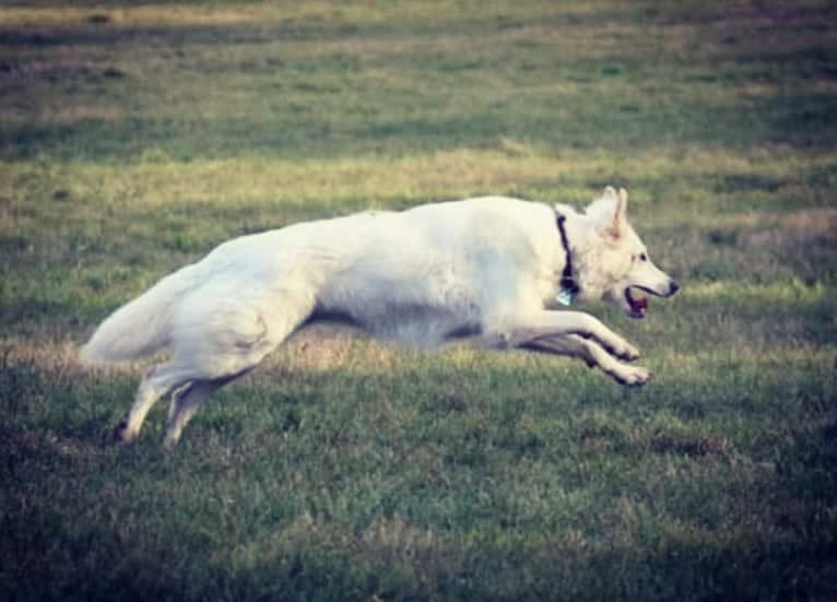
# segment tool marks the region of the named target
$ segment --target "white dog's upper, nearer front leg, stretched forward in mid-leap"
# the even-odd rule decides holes
[[[583,311],[538,311],[524,317],[506,319],[498,324],[490,346],[519,347],[539,339],[562,334],[577,334],[592,339],[620,359],[632,362],[639,350],[604,326],[601,320]]]

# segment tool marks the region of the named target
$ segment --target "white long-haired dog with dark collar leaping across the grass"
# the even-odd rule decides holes
[[[625,190],[608,188],[583,213],[486,197],[241,236],[119,308],[83,356],[119,362],[169,349],[116,430],[135,439],[170,394],[166,447],[213,390],[320,320],[425,349],[474,337],[492,349],[570,355],[643,385],[648,370],[621,362],[638,357],[634,346],[588,314],[556,310],[556,299],[606,298],[641,318],[648,299],[638,291],[676,293],[626,210]]]

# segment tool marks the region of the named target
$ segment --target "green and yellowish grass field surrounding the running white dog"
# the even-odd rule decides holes
[[[0,599],[837,599],[837,5],[0,8]],[[177,453],[111,309],[224,239],[608,184],[656,378],[304,333]]]

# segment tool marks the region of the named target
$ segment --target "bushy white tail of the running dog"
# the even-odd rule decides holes
[[[194,272],[194,265],[181,268],[114,311],[82,347],[82,362],[129,362],[167,346],[177,302],[197,286]]]

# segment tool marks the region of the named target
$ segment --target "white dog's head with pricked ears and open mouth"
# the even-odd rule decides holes
[[[651,261],[648,249],[627,221],[627,191],[606,188],[586,211],[596,244],[583,258],[579,279],[589,293],[621,307],[632,318],[645,318],[647,294],[671,297],[680,285]],[[592,295],[590,295],[592,296]]]

